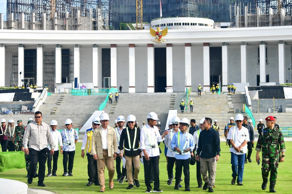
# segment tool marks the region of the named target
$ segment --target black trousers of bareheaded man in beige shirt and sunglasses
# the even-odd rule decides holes
[[[41,151],[37,151],[32,148],[29,148],[28,150],[30,158],[29,179],[33,178],[36,170],[36,164],[39,162],[39,181],[37,183],[43,183],[45,179],[47,157],[44,157]]]

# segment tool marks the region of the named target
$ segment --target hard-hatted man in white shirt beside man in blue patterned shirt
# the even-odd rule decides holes
[[[51,120],[51,136],[53,138],[53,142],[54,142],[54,154],[52,155],[51,153],[49,153],[48,155],[48,174],[47,176],[58,176],[56,174],[57,172],[57,164],[58,164],[58,157],[59,157],[59,145],[60,145],[60,153],[63,154],[63,141],[62,141],[62,136],[61,133],[56,130],[58,123],[56,120]],[[48,144],[48,149],[51,150],[51,147]],[[53,170],[52,170],[52,160],[53,160]]]

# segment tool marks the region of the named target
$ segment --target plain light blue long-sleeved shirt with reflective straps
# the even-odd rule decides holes
[[[187,142],[186,146],[185,146],[185,142]],[[173,150],[174,150],[174,147],[178,147],[178,132],[173,135],[173,138],[172,138],[170,145],[171,145],[171,148]],[[185,132],[184,134],[182,132],[180,132],[180,146],[178,148],[181,151],[183,151],[183,150],[185,150],[185,149],[183,149],[184,146],[185,146],[185,149],[191,148],[191,151],[193,151],[193,149],[195,148],[194,138],[188,132]],[[185,153],[185,152],[183,152],[183,153]],[[175,154],[175,159],[185,160],[185,159],[189,159],[189,158],[191,158],[190,152],[185,153],[185,155]]]

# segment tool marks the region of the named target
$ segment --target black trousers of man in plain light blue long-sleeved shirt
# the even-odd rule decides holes
[[[185,188],[190,187],[190,160],[191,158],[182,160],[182,159],[175,159],[176,168],[175,168],[175,185],[178,186],[180,184],[180,179],[183,174],[185,175]]]

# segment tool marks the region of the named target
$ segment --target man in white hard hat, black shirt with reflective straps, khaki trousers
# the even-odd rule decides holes
[[[138,181],[138,175],[140,172],[140,129],[135,127],[136,117],[134,115],[129,115],[127,118],[128,127],[124,129],[121,133],[121,139],[119,141],[119,157],[123,157],[123,149],[125,147],[125,159],[126,159],[126,169],[128,177],[128,187],[127,189],[132,189],[134,185],[140,187]],[[132,163],[134,164],[134,179]]]

